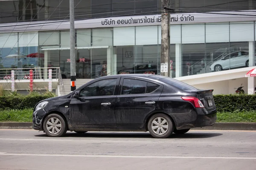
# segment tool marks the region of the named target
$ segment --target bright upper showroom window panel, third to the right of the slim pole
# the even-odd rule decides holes
[[[135,45],[135,27],[113,28],[113,45]]]

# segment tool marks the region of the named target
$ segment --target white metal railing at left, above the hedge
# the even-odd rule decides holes
[[[52,69],[52,79],[61,77],[59,67],[50,68],[3,68],[0,69],[0,79],[12,79],[12,70],[14,71],[14,79],[30,79],[30,70],[33,73],[33,79],[49,79],[49,69]]]

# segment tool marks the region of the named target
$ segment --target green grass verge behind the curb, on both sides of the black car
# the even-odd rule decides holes
[[[0,122],[32,122],[33,109],[0,111]],[[217,113],[217,122],[256,122],[256,111]]]

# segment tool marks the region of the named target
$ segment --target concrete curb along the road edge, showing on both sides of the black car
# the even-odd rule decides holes
[[[0,122],[0,129],[32,129],[30,122]],[[212,126],[196,127],[197,130],[256,130],[256,123],[215,123]]]

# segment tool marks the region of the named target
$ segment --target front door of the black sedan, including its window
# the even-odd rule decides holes
[[[119,79],[104,79],[80,90],[78,99],[71,99],[70,122],[73,127],[116,127],[114,95]]]

